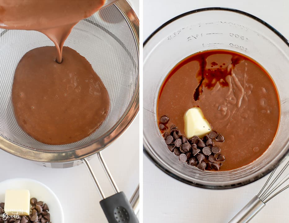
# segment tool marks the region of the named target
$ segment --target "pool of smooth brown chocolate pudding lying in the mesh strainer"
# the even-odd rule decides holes
[[[63,55],[62,63],[56,63],[55,47],[30,50],[20,60],[12,86],[20,127],[52,145],[89,136],[109,111],[108,92],[90,63],[69,47]]]

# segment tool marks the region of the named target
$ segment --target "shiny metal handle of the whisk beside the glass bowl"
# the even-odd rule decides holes
[[[247,205],[236,214],[229,223],[246,223],[249,222],[262,208],[265,207],[263,203],[257,196],[254,196],[253,199]]]

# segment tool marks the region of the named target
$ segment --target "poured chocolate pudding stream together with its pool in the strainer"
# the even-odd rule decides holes
[[[36,140],[60,145],[93,133],[109,111],[109,95],[91,64],[63,47],[78,21],[93,15],[105,0],[0,0],[0,28],[36,30],[56,47],[27,52],[12,86],[19,126]]]

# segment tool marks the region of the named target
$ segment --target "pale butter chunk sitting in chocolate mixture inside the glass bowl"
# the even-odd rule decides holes
[[[187,138],[198,136],[203,138],[211,132],[211,126],[199,107],[190,108],[184,116],[185,134]]]

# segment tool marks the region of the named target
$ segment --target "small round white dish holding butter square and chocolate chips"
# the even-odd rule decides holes
[[[61,204],[54,194],[44,184],[25,178],[15,178],[0,182],[0,203],[4,202],[5,191],[8,189],[26,189],[30,191],[31,198],[35,197],[38,201],[47,203],[51,222],[64,223],[64,215]]]

